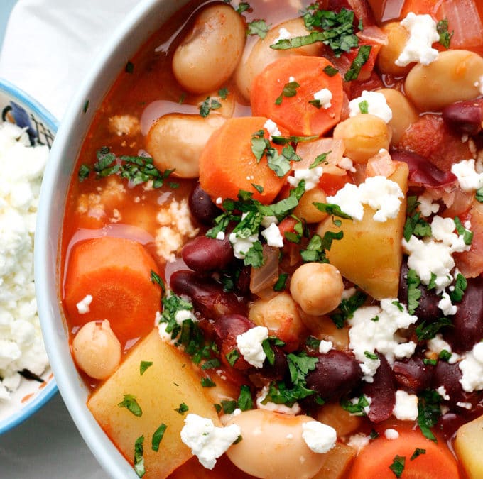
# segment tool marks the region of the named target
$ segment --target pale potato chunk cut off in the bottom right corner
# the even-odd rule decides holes
[[[483,478],[483,416],[458,429],[455,451],[470,479]]]

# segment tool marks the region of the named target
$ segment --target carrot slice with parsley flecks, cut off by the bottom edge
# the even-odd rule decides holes
[[[396,475],[390,467],[396,463],[392,467],[398,468],[397,463],[401,464],[401,462],[403,462],[403,472],[401,475]],[[349,479],[394,479],[396,477],[458,479],[460,473],[454,456],[443,441],[436,444],[426,439],[420,432],[408,430],[399,431],[397,439],[379,436],[372,441],[359,453],[349,474]]]

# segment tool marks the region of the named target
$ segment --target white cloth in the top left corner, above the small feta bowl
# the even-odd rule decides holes
[[[0,77],[59,121],[95,55],[139,0],[18,0],[6,28]]]

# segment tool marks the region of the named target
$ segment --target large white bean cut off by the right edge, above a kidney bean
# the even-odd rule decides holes
[[[430,65],[413,67],[404,90],[419,111],[437,111],[455,101],[478,97],[482,77],[483,58],[477,53],[447,50]]]

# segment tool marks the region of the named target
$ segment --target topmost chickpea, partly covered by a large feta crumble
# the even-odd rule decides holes
[[[410,63],[406,67],[398,67],[395,62],[406,46],[409,32],[397,21],[387,23],[381,27],[381,30],[387,35],[387,45],[382,45],[379,55],[377,55],[379,70],[381,73],[389,73],[395,77],[407,75],[414,63]]]

